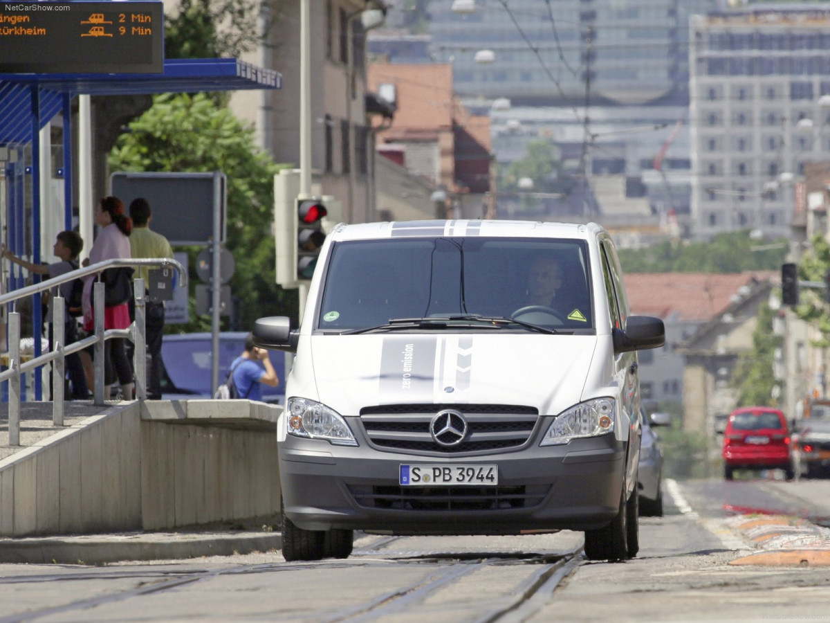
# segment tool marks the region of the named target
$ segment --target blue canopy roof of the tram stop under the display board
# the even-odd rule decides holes
[[[165,59],[162,74],[0,74],[0,146],[32,140],[32,89],[39,89],[43,127],[63,96],[121,96],[281,89],[279,72],[236,58]]]

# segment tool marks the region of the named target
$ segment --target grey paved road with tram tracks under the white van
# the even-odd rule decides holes
[[[730,527],[727,508],[820,509],[823,502],[798,496],[830,499],[830,482],[668,484],[666,517],[642,518],[640,555],[625,563],[587,562],[581,534],[559,532],[364,535],[344,561],[287,563],[279,552],[259,552],[0,565],[0,623],[830,620],[830,567],[730,565],[759,546]]]

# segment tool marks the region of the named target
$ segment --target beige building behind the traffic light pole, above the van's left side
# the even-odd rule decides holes
[[[271,2],[262,17],[266,42],[247,60],[278,68],[282,89],[238,93],[237,115],[251,122],[278,163],[300,163],[300,2]],[[312,192],[342,204],[335,219],[376,218],[374,133],[367,111],[364,12],[381,0],[315,0],[310,6]]]

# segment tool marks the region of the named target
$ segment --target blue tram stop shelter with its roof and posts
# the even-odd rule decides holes
[[[71,105],[76,96],[281,87],[279,72],[235,58],[165,59],[164,71],[160,74],[0,74],[0,226],[5,232],[2,242],[15,253],[32,249],[32,262],[41,262],[42,194],[44,184],[51,183],[41,179],[41,160],[51,159],[50,133],[41,130],[58,119],[63,127],[63,156],[56,177],[63,180],[64,228],[72,228],[72,184],[76,175],[73,173]],[[22,277],[14,277],[7,287],[11,290],[22,285]],[[39,295],[32,307],[40,307]],[[41,316],[32,316],[32,335],[39,336]],[[4,331],[2,337],[5,337]],[[0,350],[5,350],[5,343],[2,346]],[[40,356],[40,341],[34,341],[34,349],[34,355]],[[36,376],[34,390],[35,400],[41,400],[40,375]]]

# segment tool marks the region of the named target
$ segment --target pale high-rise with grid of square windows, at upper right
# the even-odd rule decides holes
[[[787,237],[805,165],[830,159],[830,8],[750,5],[690,29],[696,238]]]

